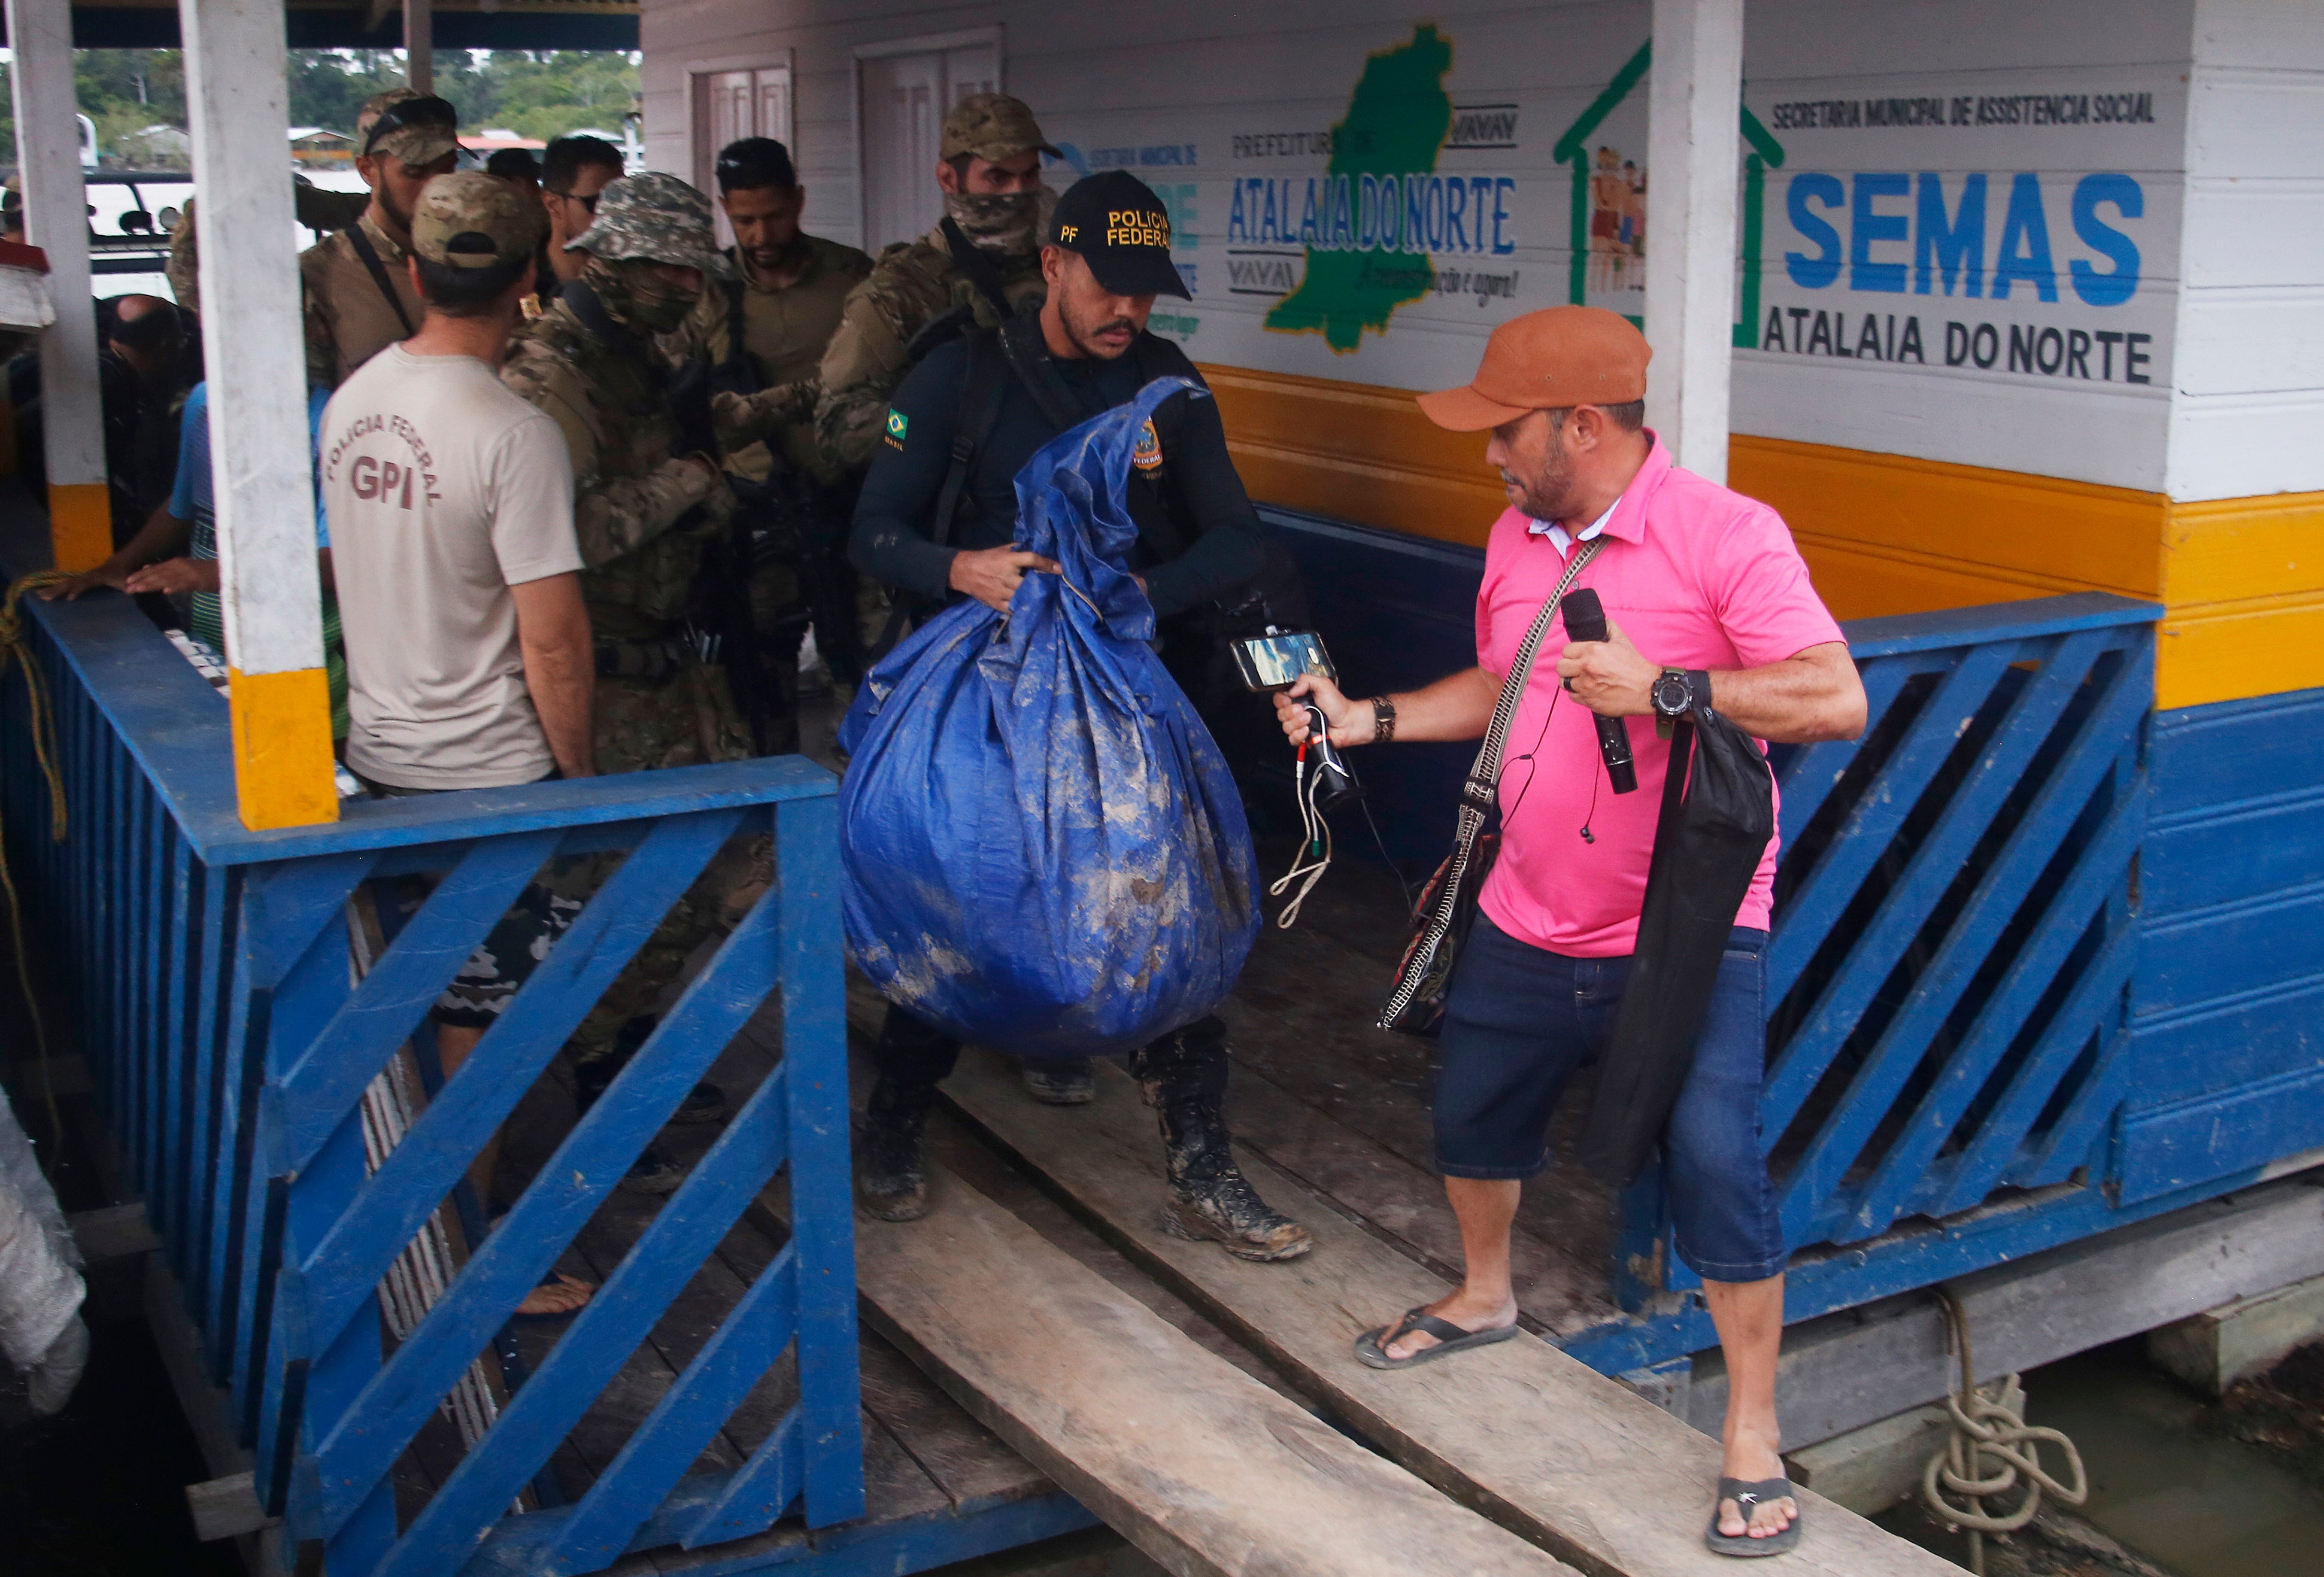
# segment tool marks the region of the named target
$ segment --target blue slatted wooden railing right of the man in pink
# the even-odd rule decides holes
[[[2129,1219],[2108,1138],[2157,613],[2078,595],[1857,620],[1866,732],[1773,753],[1759,1110],[1789,1319]],[[1645,1317],[1699,1287],[1669,1233],[1650,1175],[1615,1250]]]

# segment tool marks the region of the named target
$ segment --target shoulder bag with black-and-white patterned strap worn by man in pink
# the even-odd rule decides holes
[[[1436,866],[1436,876],[1420,890],[1413,908],[1413,941],[1397,964],[1397,985],[1380,1008],[1380,1029],[1406,1036],[1436,1036],[1446,1022],[1446,999],[1452,994],[1452,966],[1469,943],[1469,927],[1476,924],[1476,896],[1492,873],[1492,862],[1501,852],[1501,750],[1508,746],[1508,725],[1525,699],[1525,685],[1534,676],[1534,657],[1541,653],[1541,636],[1557,618],[1557,604],[1573,590],[1573,576],[1583,571],[1606,543],[1594,537],[1576,546],[1566,574],[1557,590],[1541,604],[1534,627],[1525,632],[1518,660],[1508,664],[1501,681],[1501,699],[1485,725],[1485,746],[1476,753],[1476,766],[1459,787],[1459,820],[1452,829],[1452,852]]]

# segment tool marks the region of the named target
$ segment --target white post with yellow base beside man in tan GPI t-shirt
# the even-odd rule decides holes
[[[179,0],[202,190],[202,353],[235,787],[249,827],[339,815],[284,137],[281,0]]]

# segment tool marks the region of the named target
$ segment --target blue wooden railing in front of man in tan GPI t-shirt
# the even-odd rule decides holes
[[[393,801],[246,831],[218,694],[121,599],[26,599],[67,836],[49,836],[26,685],[0,701],[7,852],[42,920],[107,1126],[207,1338],[256,1486],[335,1577],[611,1565],[625,1549],[862,1514],[837,801],[799,757]],[[776,883],[607,1099],[393,1352],[374,1289],[600,992],[730,838]],[[623,850],[539,971],[386,1154],[363,1099],[551,857]],[[365,883],[435,890],[367,968]],[[781,992],[781,1061],[437,1493],[393,1468],[711,1059]],[[741,1210],[779,1173],[792,1236],[574,1503],[511,1512]],[[786,1354],[797,1400],[727,1475],[688,1475]],[[544,1479],[546,1482],[546,1479]],[[532,1500],[525,1500],[532,1505]]]

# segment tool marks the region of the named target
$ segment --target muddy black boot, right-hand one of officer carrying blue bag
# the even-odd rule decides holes
[[[1306,1226],[1269,1208],[1234,1164],[1220,1110],[1227,1096],[1225,1024],[1204,1020],[1132,1054],[1132,1073],[1162,1126],[1169,1196],[1162,1231],[1218,1243],[1236,1259],[1299,1259],[1315,1240]]]

